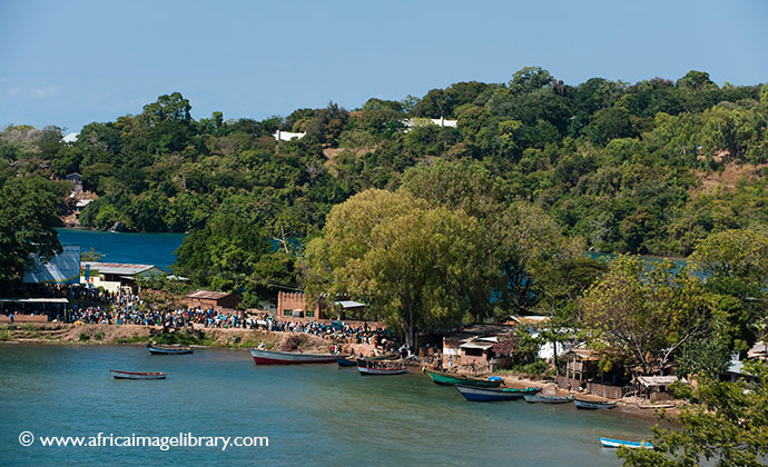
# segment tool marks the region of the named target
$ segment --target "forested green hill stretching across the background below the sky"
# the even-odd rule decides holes
[[[410,167],[444,159],[484,166],[510,200],[540,205],[593,250],[686,256],[709,232],[768,225],[767,119],[768,86],[719,87],[700,71],[572,86],[524,68],[506,83],[263,121],[195,120],[171,93],[87,125],[72,143],[55,127],[6,128],[0,182],[80,172],[99,196],[80,219],[99,229],[119,220],[134,231],[188,231],[223,212],[303,238],[352,195],[395,188]],[[306,136],[276,141],[278,129]]]

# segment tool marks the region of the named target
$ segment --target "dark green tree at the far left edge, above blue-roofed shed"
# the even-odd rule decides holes
[[[61,191],[40,177],[11,178],[0,188],[0,284],[21,279],[31,254],[46,261],[61,252],[53,230]]]

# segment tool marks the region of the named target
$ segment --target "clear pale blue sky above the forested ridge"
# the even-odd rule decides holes
[[[0,129],[65,133],[179,91],[195,119],[401,100],[528,66],[768,81],[768,1],[0,0]]]

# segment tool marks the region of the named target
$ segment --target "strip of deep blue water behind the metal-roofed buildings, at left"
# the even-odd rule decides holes
[[[81,251],[93,248],[104,262],[155,265],[164,269],[176,261],[174,251],[185,234],[119,234],[80,229],[56,229],[61,245],[79,245]]]

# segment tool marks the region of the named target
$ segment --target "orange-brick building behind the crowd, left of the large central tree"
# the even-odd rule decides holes
[[[336,296],[333,305],[327,297],[321,297],[313,307],[307,307],[306,297],[301,291],[277,292],[277,316],[280,319],[312,321],[321,319],[363,320],[365,304],[349,300],[346,296]]]

